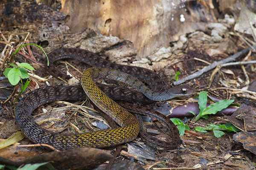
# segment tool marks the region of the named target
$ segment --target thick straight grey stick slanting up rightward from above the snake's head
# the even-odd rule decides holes
[[[256,45],[253,45],[253,48],[256,48]],[[187,80],[194,79],[196,77],[201,76],[205,72],[210,71],[213,68],[215,68],[217,65],[224,64],[224,63],[230,62],[230,61],[234,61],[236,58],[246,54],[250,49],[251,48],[245,48],[242,51],[239,51],[238,53],[236,53],[230,57],[227,57],[226,59],[223,59],[218,62],[213,62],[211,65],[208,65],[207,67],[201,69],[200,71],[197,71],[194,74],[189,75],[188,77],[185,77],[183,79],[178,80],[177,82],[174,82],[173,85],[180,85],[181,83],[186,82]]]

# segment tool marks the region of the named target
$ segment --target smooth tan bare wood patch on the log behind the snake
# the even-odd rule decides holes
[[[129,40],[134,43],[137,59],[161,46],[168,47],[181,34],[204,29],[198,13],[186,12],[183,0],[61,0],[61,5],[73,33],[88,27]],[[184,22],[180,22],[181,14]]]

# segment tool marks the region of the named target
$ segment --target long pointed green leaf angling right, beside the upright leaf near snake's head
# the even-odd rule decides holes
[[[231,103],[233,103],[234,100],[228,100],[228,99],[224,99],[221,100],[219,102],[216,102],[212,105],[209,105],[207,108],[204,109],[204,111],[202,112],[202,116],[203,115],[207,115],[207,114],[215,114],[218,111],[221,111],[224,108],[227,108]]]

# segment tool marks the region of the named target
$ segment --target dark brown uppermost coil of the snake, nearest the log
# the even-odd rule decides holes
[[[59,76],[63,79],[68,79],[70,76],[67,76],[62,71],[56,69],[53,66],[53,63],[60,59],[72,58],[77,59],[80,62],[84,62],[91,67],[111,68],[113,70],[130,74],[134,77],[137,77],[141,82],[148,84],[155,92],[162,91],[164,88],[166,88],[165,83],[162,81],[161,77],[154,73],[154,71],[132,65],[121,65],[113,63],[87,50],[79,48],[60,48],[49,53],[48,58],[49,67],[47,67],[47,71],[52,75],[55,75],[56,77]]]

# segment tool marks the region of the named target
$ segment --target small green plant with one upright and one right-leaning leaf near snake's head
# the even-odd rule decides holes
[[[234,100],[224,99],[224,100],[221,100],[219,102],[216,102],[216,103],[206,107],[207,92],[201,91],[199,94],[199,99],[198,99],[198,105],[199,105],[200,112],[198,113],[197,116],[195,116],[194,122],[198,121],[201,117],[203,117],[204,119],[208,119],[209,114],[216,114],[218,111],[221,111],[222,109],[227,108],[233,102],[234,102]],[[189,112],[195,115],[194,112],[192,112],[192,111],[189,111]]]

